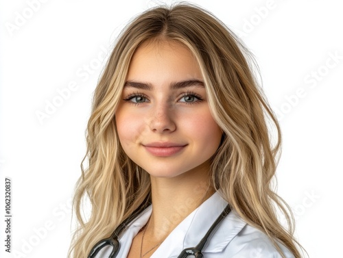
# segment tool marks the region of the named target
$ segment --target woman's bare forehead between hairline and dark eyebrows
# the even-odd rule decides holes
[[[171,40],[144,42],[132,56],[127,80],[163,83],[178,79],[202,79],[196,57],[184,44]]]

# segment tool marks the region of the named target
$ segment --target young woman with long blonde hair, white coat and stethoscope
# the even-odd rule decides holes
[[[270,187],[279,125],[247,54],[194,5],[153,8],[126,27],[94,94],[70,257],[300,257]]]

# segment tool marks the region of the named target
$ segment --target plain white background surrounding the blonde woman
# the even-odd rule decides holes
[[[283,130],[278,193],[294,209],[296,237],[309,256],[338,257],[343,230],[341,1],[193,2],[213,12],[255,54]],[[70,198],[105,52],[132,16],[156,3],[1,1],[1,257],[66,257],[73,229]],[[56,102],[58,91],[70,83],[76,83],[73,91]],[[49,109],[53,101],[60,106]],[[48,117],[38,119],[37,112],[45,109]],[[4,251],[5,177],[12,179],[11,254]]]

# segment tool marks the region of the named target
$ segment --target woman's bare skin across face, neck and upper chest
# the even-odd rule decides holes
[[[176,42],[145,43],[137,49],[115,116],[123,150],[152,181],[145,253],[213,193],[209,159],[222,130],[211,115],[196,59]],[[134,237],[129,258],[139,257],[141,237]]]

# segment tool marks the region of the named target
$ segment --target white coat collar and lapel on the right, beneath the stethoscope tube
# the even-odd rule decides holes
[[[185,248],[196,246],[228,203],[215,192],[172,231],[151,258],[178,257]],[[219,253],[244,228],[246,222],[231,211],[209,237],[202,253]]]

